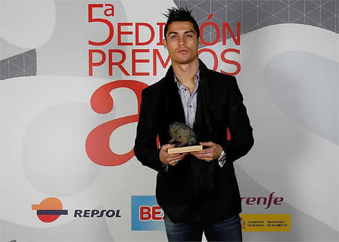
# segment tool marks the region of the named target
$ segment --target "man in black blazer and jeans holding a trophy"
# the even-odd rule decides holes
[[[172,66],[143,90],[134,153],[158,171],[156,199],[169,241],[201,241],[203,232],[208,241],[242,241],[233,162],[254,142],[242,95],[235,77],[199,59],[199,26],[190,12],[172,8],[165,16],[164,46]],[[173,122],[192,127],[203,150],[169,154]]]

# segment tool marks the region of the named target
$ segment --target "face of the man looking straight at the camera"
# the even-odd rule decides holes
[[[173,21],[167,28],[164,46],[173,62],[187,64],[198,57],[199,39],[189,21]]]

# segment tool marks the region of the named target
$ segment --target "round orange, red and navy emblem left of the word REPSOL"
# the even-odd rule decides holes
[[[32,205],[37,210],[37,217],[44,223],[51,223],[60,215],[67,215],[68,210],[62,210],[62,202],[57,198],[46,198],[39,205]]]

